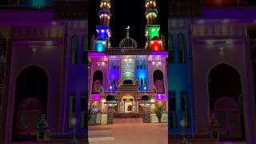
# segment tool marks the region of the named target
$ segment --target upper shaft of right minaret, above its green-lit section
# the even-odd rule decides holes
[[[147,25],[156,25],[157,24],[157,17],[158,17],[158,10],[155,9],[157,6],[157,2],[155,0],[146,0],[146,22]]]

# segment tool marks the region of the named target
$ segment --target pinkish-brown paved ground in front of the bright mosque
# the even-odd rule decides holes
[[[167,144],[166,123],[142,123],[140,118],[115,119],[113,125],[90,126],[90,144]]]

